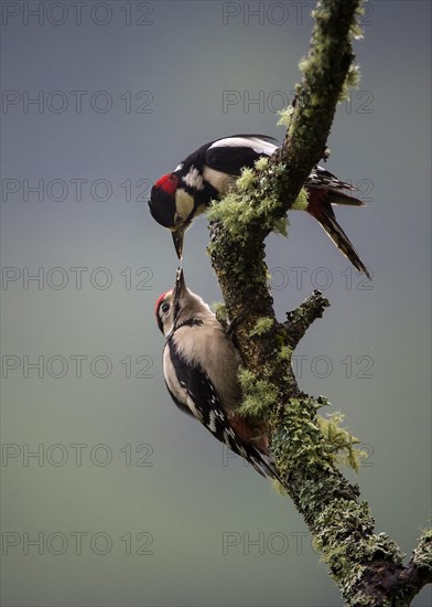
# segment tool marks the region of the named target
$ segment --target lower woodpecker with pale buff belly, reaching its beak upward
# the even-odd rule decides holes
[[[240,355],[207,303],[186,287],[183,269],[174,288],[158,299],[155,317],[166,338],[165,384],[177,407],[260,475],[279,479],[263,428],[238,415]]]

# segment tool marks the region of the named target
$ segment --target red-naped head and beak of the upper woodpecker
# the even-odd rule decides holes
[[[181,259],[184,233],[194,212],[193,196],[182,187],[182,181],[175,173],[168,173],[154,183],[149,206],[153,219],[171,230],[175,252]]]

